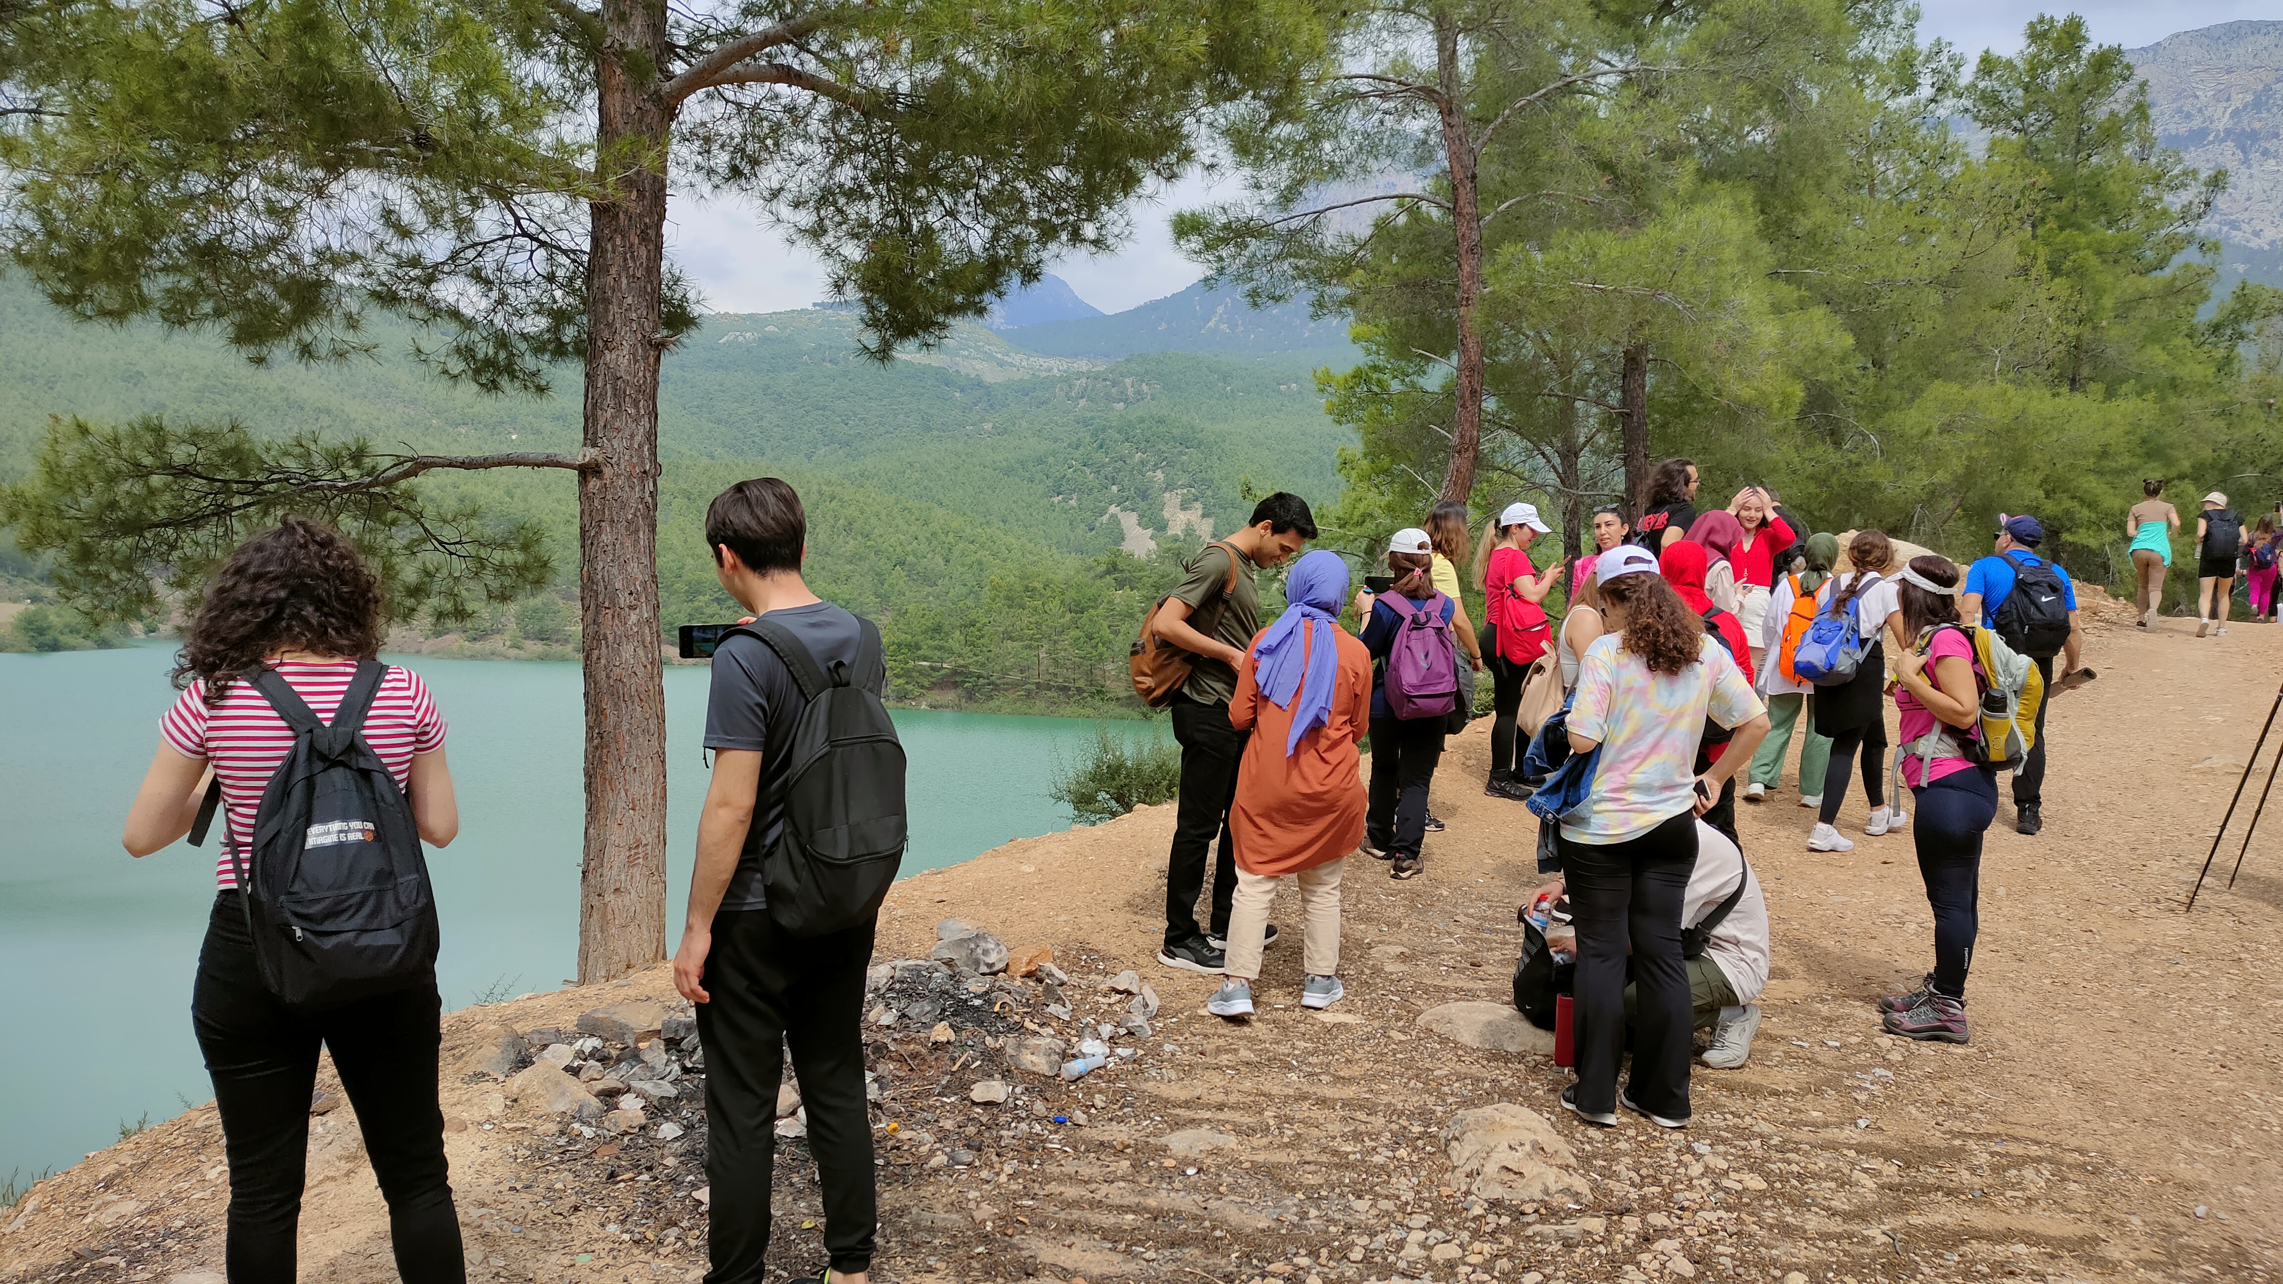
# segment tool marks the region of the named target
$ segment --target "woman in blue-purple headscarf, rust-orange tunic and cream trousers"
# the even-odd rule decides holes
[[[1340,628],[1347,562],[1315,551],[1285,578],[1285,612],[1253,637],[1237,669],[1228,722],[1253,731],[1237,763],[1228,829],[1237,845],[1237,896],[1215,1017],[1251,1017],[1267,946],[1269,902],[1285,875],[1299,882],[1301,1008],[1331,1008],[1340,987],[1340,861],[1363,841],[1356,743],[1372,729],[1372,653]]]

